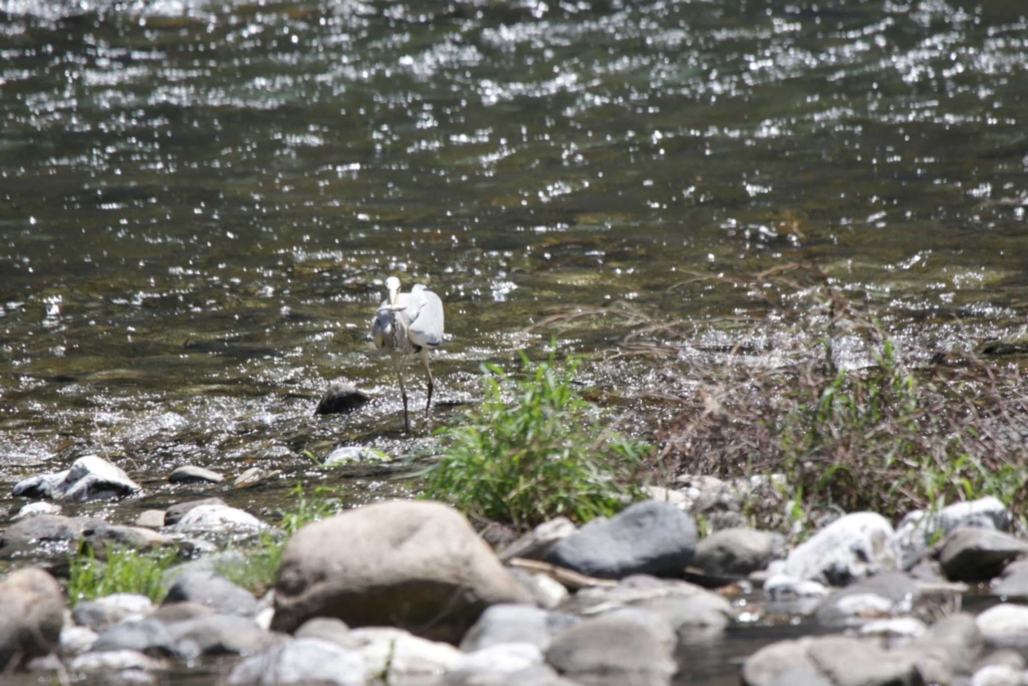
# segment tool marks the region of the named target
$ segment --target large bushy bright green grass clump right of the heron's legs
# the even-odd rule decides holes
[[[483,365],[482,402],[443,430],[445,453],[423,497],[517,527],[557,515],[588,521],[638,499],[649,446],[604,426],[572,389],[579,360],[559,365],[551,354],[531,364],[523,353],[521,360],[519,377]]]

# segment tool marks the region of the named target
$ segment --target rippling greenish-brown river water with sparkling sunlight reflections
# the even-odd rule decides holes
[[[176,498],[167,474],[189,463],[277,470],[229,495],[264,515],[297,481],[412,490],[305,455],[435,444],[402,432],[370,344],[391,275],[446,303],[437,425],[474,402],[481,362],[556,336],[652,434],[644,396],[688,393],[689,357],[619,356],[626,331],[684,320],[732,342],[715,322],[764,319],[748,335],[774,363],[809,346],[791,317],[811,298],[769,317],[752,275],[794,262],[884,308],[908,359],[1015,334],[1026,14],[3,0],[0,489],[99,453],[146,486],[138,507]],[[574,312],[592,314],[547,319]],[[338,377],[372,402],[313,417]],[[407,378],[417,407],[424,373]]]

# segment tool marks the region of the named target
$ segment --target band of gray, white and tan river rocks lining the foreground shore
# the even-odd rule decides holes
[[[739,526],[747,499],[774,498],[767,480],[695,477],[609,519],[558,518],[495,545],[447,505],[390,501],[301,528],[255,598],[218,573],[241,553],[211,541],[272,530],[217,499],[133,525],[62,513],[141,491],[99,457],[14,488],[42,500],[0,535],[6,558],[37,561],[0,580],[5,683],[656,686],[690,682],[683,646],[798,621],[809,635],[750,654],[741,683],[1028,683],[1028,607],[1009,602],[1028,595],[1028,544],[992,498],[895,528],[843,514],[788,541]],[[69,607],[58,578],[83,540],[193,559],[166,572],[158,606],[116,593]],[[968,593],[992,600],[965,612]]]

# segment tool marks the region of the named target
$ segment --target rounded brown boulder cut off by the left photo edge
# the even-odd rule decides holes
[[[64,591],[52,576],[34,567],[14,570],[0,580],[0,674],[58,648]]]

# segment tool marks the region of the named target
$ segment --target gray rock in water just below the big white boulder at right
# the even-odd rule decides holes
[[[914,579],[885,572],[833,592],[817,606],[822,626],[855,626],[871,619],[909,615],[919,595]]]

